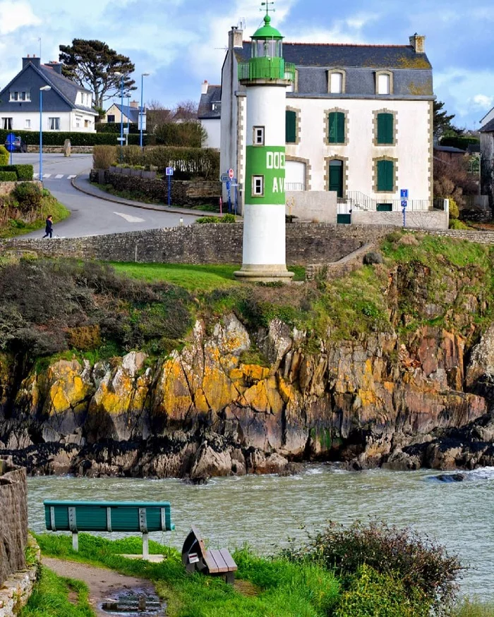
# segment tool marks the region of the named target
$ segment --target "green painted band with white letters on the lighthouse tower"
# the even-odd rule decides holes
[[[284,204],[284,146],[247,146],[246,169],[246,204]],[[253,194],[253,176],[263,176],[263,195]]]

